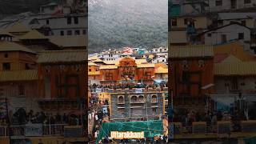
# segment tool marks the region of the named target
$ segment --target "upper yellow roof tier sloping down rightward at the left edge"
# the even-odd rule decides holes
[[[24,51],[24,52],[36,54],[33,50],[26,48],[26,46],[22,46],[15,42],[7,42],[7,41],[0,41],[0,51]]]

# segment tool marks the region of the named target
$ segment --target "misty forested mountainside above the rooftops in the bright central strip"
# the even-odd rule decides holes
[[[168,0],[90,0],[89,50],[166,46]]]

